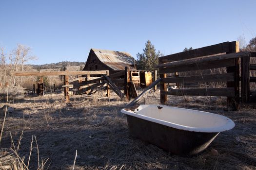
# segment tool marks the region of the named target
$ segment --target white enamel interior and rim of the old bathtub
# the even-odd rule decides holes
[[[128,114],[172,127],[182,126],[179,129],[190,131],[222,132],[235,126],[227,117],[192,109],[152,104],[140,105],[134,111],[128,111]],[[127,114],[127,111],[122,112]]]

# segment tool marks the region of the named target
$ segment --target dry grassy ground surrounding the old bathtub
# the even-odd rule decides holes
[[[10,100],[8,109],[13,109],[5,121],[0,169],[15,169],[24,158],[24,169],[43,166],[72,170],[76,157],[75,170],[256,170],[255,109],[217,109],[215,106],[224,107],[223,98],[169,97],[171,105],[194,105],[236,123],[234,129],[220,133],[203,153],[186,157],[129,136],[126,117],[120,113],[127,102],[119,101],[115,94],[98,100],[101,97],[74,96],[72,105],[63,102],[63,94]],[[159,103],[159,91],[151,91],[140,103]],[[3,105],[1,102],[0,107]],[[0,122],[2,125],[3,115]]]

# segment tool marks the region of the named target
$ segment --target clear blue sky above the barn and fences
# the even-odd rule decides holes
[[[31,64],[85,62],[91,48],[136,58],[150,40],[163,54],[256,36],[256,0],[0,0],[0,47],[18,43]]]

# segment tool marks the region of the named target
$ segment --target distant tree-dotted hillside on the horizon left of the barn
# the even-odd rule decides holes
[[[51,63],[51,64],[44,64],[44,65],[30,65],[32,68],[40,70],[40,69],[56,69],[59,68],[60,70],[67,69],[70,70],[71,68],[75,68],[76,70],[82,70],[85,66],[85,62],[76,62],[76,61],[61,61],[59,63]]]

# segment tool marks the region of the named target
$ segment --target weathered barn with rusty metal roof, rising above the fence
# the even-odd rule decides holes
[[[110,74],[129,66],[135,69],[135,59],[128,52],[91,49],[83,70],[109,70]]]

